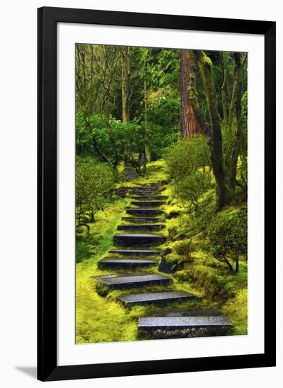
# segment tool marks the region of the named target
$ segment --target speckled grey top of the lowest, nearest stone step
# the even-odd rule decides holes
[[[215,317],[141,317],[139,329],[196,329],[207,327],[233,327],[224,315]]]

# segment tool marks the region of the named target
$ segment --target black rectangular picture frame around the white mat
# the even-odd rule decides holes
[[[57,23],[260,34],[265,39],[265,351],[139,362],[57,363]],[[275,22],[87,9],[38,9],[38,379],[42,381],[275,366]]]

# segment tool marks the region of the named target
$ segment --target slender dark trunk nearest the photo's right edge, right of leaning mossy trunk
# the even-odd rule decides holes
[[[242,65],[241,65],[241,54],[238,52],[234,53],[235,60],[235,112],[236,112],[236,121],[237,128],[235,133],[234,144],[232,147],[232,155],[229,165],[229,190],[231,195],[234,195],[236,188],[236,176],[237,176],[237,162],[239,157],[239,151],[241,148],[241,138],[242,138],[242,122],[241,122],[241,98],[242,98],[242,87],[241,87],[241,78],[242,78]]]

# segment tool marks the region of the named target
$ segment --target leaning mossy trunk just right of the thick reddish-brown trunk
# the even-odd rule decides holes
[[[201,72],[203,87],[206,92],[206,102],[210,117],[210,128],[212,129],[211,145],[211,160],[213,166],[213,174],[215,176],[217,194],[218,194],[218,210],[229,203],[227,197],[227,188],[225,182],[225,171],[223,168],[223,152],[222,152],[222,133],[220,126],[220,116],[218,113],[215,85],[213,80],[212,62],[203,53],[203,51],[194,51],[196,62]]]

